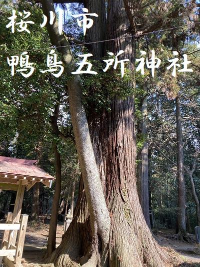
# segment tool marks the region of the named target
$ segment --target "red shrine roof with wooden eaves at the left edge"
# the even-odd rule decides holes
[[[29,189],[35,182],[42,182],[50,186],[55,178],[34,165],[36,160],[18,159],[0,156],[0,184],[22,184],[27,185]]]

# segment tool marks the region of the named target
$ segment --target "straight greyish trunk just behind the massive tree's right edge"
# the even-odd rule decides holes
[[[137,192],[146,224],[150,228],[149,199],[148,199],[148,147],[147,147],[147,97],[141,100],[141,119],[138,122],[138,134],[142,134],[145,141],[137,152]]]

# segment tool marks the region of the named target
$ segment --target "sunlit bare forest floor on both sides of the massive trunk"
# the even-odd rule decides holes
[[[43,256],[46,251],[48,228],[49,219],[45,219],[44,224],[31,225],[28,223],[21,260],[23,267],[37,267],[37,264],[44,262]],[[63,222],[58,221],[56,246],[58,246],[61,242],[63,233]],[[153,231],[153,233],[155,234],[161,246],[167,247],[166,249],[169,251],[174,249],[178,254],[180,254],[181,258],[185,261],[185,265],[181,266],[200,267],[200,255],[196,255],[193,252],[193,249],[195,248],[194,235],[189,235],[191,240],[190,243],[188,243],[174,239],[172,230],[169,229],[157,229],[156,232]]]

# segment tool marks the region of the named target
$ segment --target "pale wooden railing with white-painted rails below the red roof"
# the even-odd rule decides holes
[[[28,215],[23,214],[20,222],[12,222],[12,213],[8,212],[6,223],[0,223],[0,230],[4,230],[0,257],[8,266],[21,263],[27,221]]]

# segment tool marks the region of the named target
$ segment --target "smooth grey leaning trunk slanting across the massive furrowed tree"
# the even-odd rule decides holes
[[[49,21],[49,12],[51,11],[55,14],[53,1],[41,0],[41,4],[43,13]],[[68,102],[78,160],[87,198],[92,236],[91,242],[86,246],[87,252],[84,254],[82,262],[85,262],[83,264],[84,267],[94,267],[98,264],[103,266],[107,262],[110,218],[103,196],[89,136],[86,115],[82,104],[81,80],[79,75],[71,75],[71,72],[75,69],[75,62],[66,37],[63,33],[59,35],[56,19],[54,19],[52,25],[47,24],[47,30],[51,43],[59,47],[66,74],[70,77],[67,79]],[[73,243],[75,243],[75,241],[73,241]],[[58,257],[56,260],[59,261],[60,258]],[[62,265],[60,264],[59,266]]]

